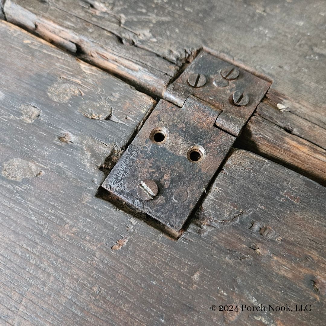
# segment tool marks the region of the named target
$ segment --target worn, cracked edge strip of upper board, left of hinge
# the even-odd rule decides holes
[[[75,4],[83,11],[84,6],[92,3],[97,2],[79,1]],[[74,6],[74,2],[70,5]],[[177,72],[178,67],[174,64],[134,46],[124,35],[111,33],[106,27],[69,13],[67,8],[60,8],[60,3],[32,0],[19,4],[8,1],[5,6],[9,22],[128,80],[138,88],[145,88],[150,94],[162,96],[165,86]]]

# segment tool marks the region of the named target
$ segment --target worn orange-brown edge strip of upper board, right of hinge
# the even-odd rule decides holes
[[[326,186],[326,151],[314,144],[326,146],[325,134],[310,122],[290,115],[265,103],[259,104],[235,146],[249,149]],[[305,127],[311,128],[311,142],[300,137]]]

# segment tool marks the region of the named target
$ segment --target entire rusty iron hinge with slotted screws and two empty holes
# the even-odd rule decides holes
[[[270,85],[200,52],[102,186],[179,231]]]

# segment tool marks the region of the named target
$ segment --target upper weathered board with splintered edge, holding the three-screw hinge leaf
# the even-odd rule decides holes
[[[322,98],[326,95],[326,50],[320,38],[326,20],[324,2],[317,1],[312,6],[305,1],[267,0],[200,4],[7,0],[4,10],[10,22],[119,75],[149,94],[162,96],[179,66],[191,60],[202,46],[269,76],[274,81],[267,94],[270,108],[265,106],[268,113],[260,115],[271,121],[266,114],[274,110],[270,118],[275,125],[275,140],[283,140],[283,130],[292,128],[294,145],[287,147],[286,156],[283,143],[270,139],[270,127],[261,120],[262,129],[251,128],[250,134],[246,134],[244,141],[249,140],[250,146],[245,148],[254,147],[260,155],[325,185],[326,107]],[[266,153],[264,146],[271,141],[272,152]],[[315,150],[314,145],[321,149]],[[300,156],[303,151],[304,162]],[[311,171],[310,162],[316,165],[312,168],[315,171]],[[316,175],[319,170],[320,175]]]

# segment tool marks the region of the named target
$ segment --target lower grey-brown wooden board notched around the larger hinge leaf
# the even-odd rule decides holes
[[[155,101],[12,24],[0,43],[1,324],[325,323],[325,187],[235,149],[172,240],[97,193]],[[300,138],[303,120],[290,134],[259,110],[252,121]]]

